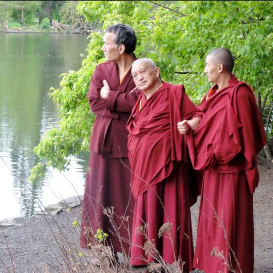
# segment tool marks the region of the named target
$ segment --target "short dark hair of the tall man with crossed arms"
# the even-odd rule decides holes
[[[131,54],[135,50],[136,36],[131,27],[124,24],[115,24],[109,26],[105,32],[115,33],[115,43],[123,44],[125,47],[125,53]]]

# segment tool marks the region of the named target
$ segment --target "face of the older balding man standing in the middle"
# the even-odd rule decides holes
[[[154,68],[145,61],[136,61],[132,65],[132,77],[137,88],[150,90],[158,84],[159,68]]]

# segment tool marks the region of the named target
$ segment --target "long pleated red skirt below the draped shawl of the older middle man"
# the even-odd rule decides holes
[[[140,195],[134,206],[131,259],[132,265],[145,265],[155,260],[154,254],[146,255],[144,245],[154,241],[156,249],[166,263],[186,262],[185,270],[192,270],[193,241],[189,195],[189,171],[176,168],[169,177]],[[163,202],[159,201],[159,198]],[[163,223],[171,223],[159,238]],[[168,225],[168,224],[167,224]],[[147,226],[147,233],[140,232]]]

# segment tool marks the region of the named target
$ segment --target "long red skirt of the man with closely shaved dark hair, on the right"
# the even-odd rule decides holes
[[[229,272],[215,251],[211,255],[214,248],[237,272],[238,263],[242,272],[253,272],[253,195],[245,173],[204,173],[194,267],[211,273]]]

